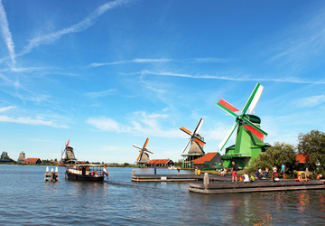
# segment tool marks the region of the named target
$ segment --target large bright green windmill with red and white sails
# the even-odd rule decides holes
[[[238,127],[236,144],[234,146],[228,146],[225,155],[221,157],[224,161],[223,165],[226,167],[231,167],[231,163],[235,162],[239,168],[243,169],[249,165],[252,159],[270,147],[269,144],[263,142],[267,133],[260,127],[261,119],[255,115],[251,115],[262,95],[263,89],[264,87],[261,84],[256,84],[242,111],[230,105],[224,99],[220,99],[217,103],[218,107],[223,108],[236,118],[230,133],[218,145],[219,151],[222,151],[226,146],[229,138]]]

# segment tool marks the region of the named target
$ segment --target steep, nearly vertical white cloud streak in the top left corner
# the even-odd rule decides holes
[[[1,27],[1,33],[5,39],[5,44],[7,46],[10,59],[13,62],[13,68],[15,64],[15,56],[14,56],[14,41],[12,38],[12,34],[10,33],[9,30],[9,24],[7,21],[7,17],[5,14],[5,8],[4,5],[2,4],[2,0],[0,0],[0,27]]]

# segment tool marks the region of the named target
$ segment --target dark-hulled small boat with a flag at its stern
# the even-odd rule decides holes
[[[68,168],[66,178],[73,181],[102,182],[104,181],[104,174],[108,178],[105,165],[80,164]]]

